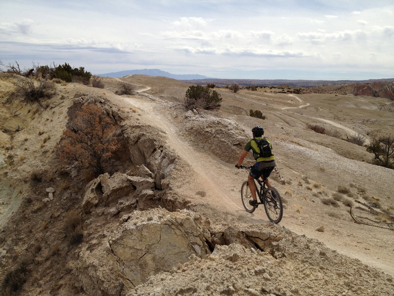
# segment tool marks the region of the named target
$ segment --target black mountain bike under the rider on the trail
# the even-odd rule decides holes
[[[252,167],[245,167],[241,165],[239,168],[250,171]],[[260,185],[260,188],[256,185],[256,181]],[[257,196],[260,199],[260,202],[257,204],[264,205],[265,214],[267,214],[269,221],[279,223],[283,216],[283,203],[278,190],[272,186],[267,187],[265,185],[265,180],[261,181],[259,179],[254,179],[253,182],[255,183]],[[241,199],[246,212],[253,213],[256,210],[257,206],[249,204],[249,201],[253,200],[253,197],[248,181],[245,181],[241,186]]]

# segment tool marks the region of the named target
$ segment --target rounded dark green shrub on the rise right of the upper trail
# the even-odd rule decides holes
[[[220,108],[222,97],[216,90],[201,85],[191,85],[186,90],[184,106],[188,110],[216,110]]]

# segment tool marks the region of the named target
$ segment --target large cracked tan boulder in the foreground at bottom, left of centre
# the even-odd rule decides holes
[[[207,234],[197,221],[185,210],[134,211],[123,216],[110,235],[99,233],[83,243],[79,259],[70,262],[69,267],[88,295],[115,295],[119,281],[129,291],[191,256],[204,258],[210,254]]]

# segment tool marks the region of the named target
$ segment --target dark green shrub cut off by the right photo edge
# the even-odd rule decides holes
[[[374,164],[394,169],[394,137],[374,137],[366,150],[374,154]]]

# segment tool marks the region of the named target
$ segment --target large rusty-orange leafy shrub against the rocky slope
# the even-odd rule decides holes
[[[83,106],[71,123],[74,131],[66,129],[56,146],[60,162],[93,176],[103,174],[120,148],[114,136],[115,123],[96,105]]]

